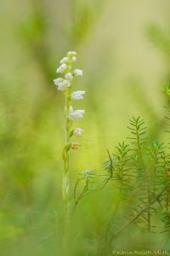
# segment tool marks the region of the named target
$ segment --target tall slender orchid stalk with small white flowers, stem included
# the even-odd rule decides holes
[[[65,146],[63,148],[63,182],[62,192],[65,204],[65,227],[70,219],[70,189],[69,189],[69,163],[71,149],[78,149],[81,144],[72,141],[72,137],[82,137],[82,128],[72,128],[72,125],[78,119],[83,117],[85,110],[73,110],[72,102],[83,99],[85,90],[73,90],[73,80],[75,77],[82,76],[81,69],[72,69],[73,63],[77,61],[77,53],[69,51],[60,61],[60,66],[56,72],[62,74],[62,78],[54,79],[57,89],[62,91],[65,96]]]

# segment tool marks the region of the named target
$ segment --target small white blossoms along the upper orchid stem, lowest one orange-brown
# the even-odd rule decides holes
[[[61,73],[62,77],[54,79],[54,84],[57,86],[57,89],[65,93],[65,119],[70,122],[69,127],[71,127],[74,121],[82,118],[83,114],[85,113],[85,110],[83,109],[73,110],[72,108],[72,101],[82,100],[83,96],[85,95],[85,90],[72,90],[73,79],[75,77],[82,76],[81,69],[72,69],[72,64],[75,61],[77,61],[77,53],[75,51],[69,51],[67,55],[60,61],[60,66],[56,70],[56,73]],[[67,121],[65,121],[65,123]],[[70,137],[81,137],[83,130],[81,128],[76,128],[73,131],[67,132],[70,134]],[[72,149],[77,149],[80,146],[80,143],[71,143]]]

